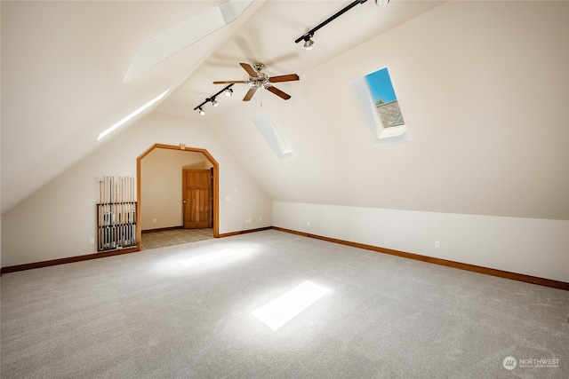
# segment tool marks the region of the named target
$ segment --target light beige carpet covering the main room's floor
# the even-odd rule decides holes
[[[276,331],[252,316],[305,280],[331,291]],[[274,230],[1,282],[3,379],[569,377],[567,291]]]

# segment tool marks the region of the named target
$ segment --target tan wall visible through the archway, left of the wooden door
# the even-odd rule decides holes
[[[140,161],[142,230],[182,226],[182,170],[211,167],[202,153],[157,148],[145,156]]]

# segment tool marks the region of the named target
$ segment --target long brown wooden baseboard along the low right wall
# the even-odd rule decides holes
[[[389,254],[391,256],[404,257],[404,258],[408,258],[408,259],[414,259],[417,261],[427,262],[430,264],[444,265],[447,267],[453,267],[453,268],[457,268],[460,270],[484,273],[485,275],[492,275],[492,276],[497,276],[500,278],[505,278],[505,279],[510,279],[510,280],[525,281],[526,283],[538,284],[540,286],[545,286],[545,287],[550,287],[550,288],[565,289],[565,291],[569,291],[569,283],[567,283],[565,281],[539,278],[539,277],[532,276],[532,275],[525,275],[523,273],[502,271],[502,270],[483,267],[483,266],[479,266],[479,265],[463,264],[461,262],[454,262],[454,261],[449,261],[446,259],[441,259],[441,258],[436,258],[436,257],[421,256],[419,254],[407,253],[405,251],[386,249],[386,248],[381,248],[378,246],[366,245],[364,243],[344,241],[344,240],[338,240],[335,238],[324,237],[324,236],[317,235],[317,234],[298,232],[298,231],[294,231],[291,229],[281,228],[278,226],[273,226],[272,229],[275,229],[275,230],[280,231],[280,232],[293,233],[293,234],[302,235],[304,237],[315,238],[317,240],[340,243],[341,245],[351,246],[354,248],[373,250],[373,251],[377,251],[379,253]]]

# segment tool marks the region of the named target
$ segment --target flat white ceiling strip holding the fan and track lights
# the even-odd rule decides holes
[[[194,107],[223,88],[212,84],[213,81],[248,78],[239,62],[260,62],[265,65],[263,72],[269,76],[295,73],[301,76],[302,81],[304,73],[442,2],[394,0],[388,7],[381,8],[369,0],[320,28],[313,38],[313,50],[305,51],[302,42],[294,43],[350,3],[345,0],[265,2],[158,109],[168,114],[198,118]],[[294,88],[298,85],[301,83],[278,83],[275,86],[294,96]],[[243,99],[248,89],[247,84],[236,84],[236,97]],[[238,101],[226,103],[224,109],[243,106]],[[215,114],[208,113],[207,120],[214,122]]]

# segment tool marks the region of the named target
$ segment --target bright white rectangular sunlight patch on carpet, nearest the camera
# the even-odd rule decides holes
[[[276,297],[251,312],[268,328],[276,330],[330,292],[329,288],[318,286],[307,280],[299,286]]]

